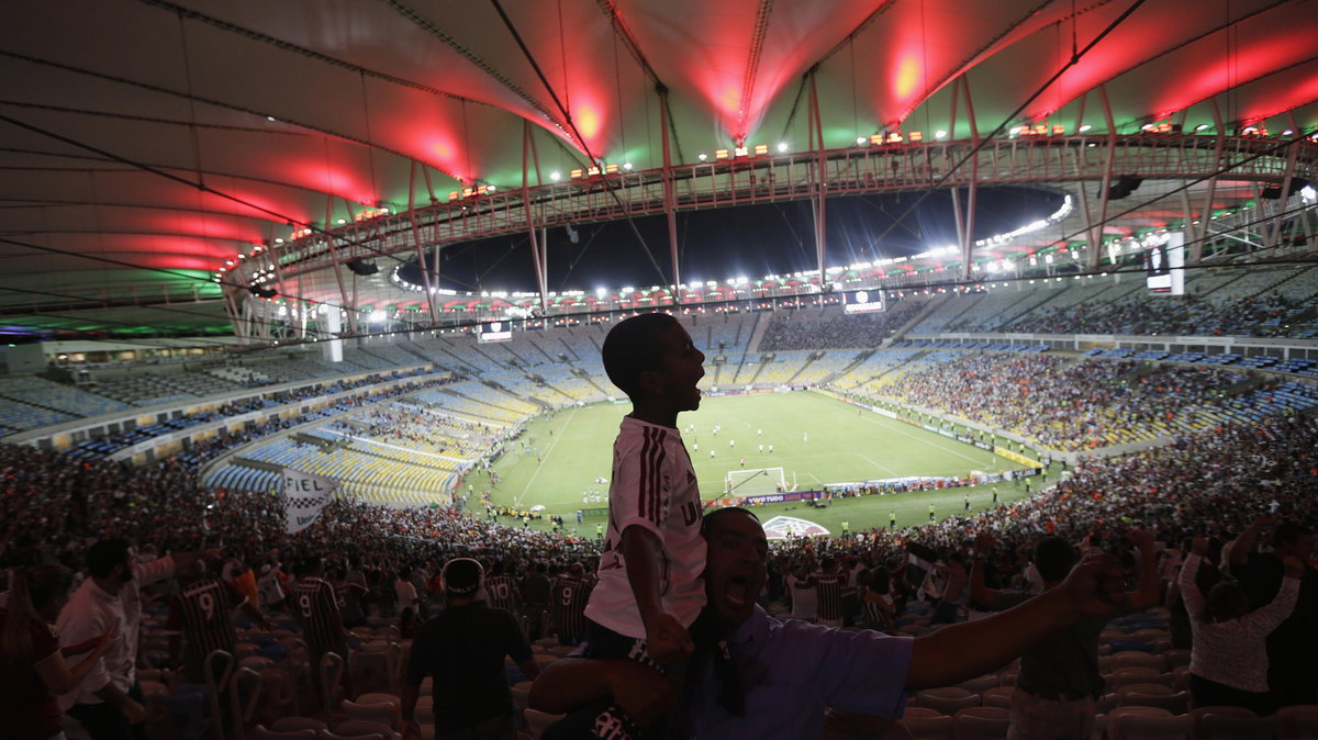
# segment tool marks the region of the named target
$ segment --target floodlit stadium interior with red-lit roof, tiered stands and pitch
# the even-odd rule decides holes
[[[66,5],[0,30],[7,568],[124,537],[369,571],[343,657],[397,710],[394,573],[594,566],[631,410],[601,346],[656,311],[705,356],[677,431],[706,511],[759,517],[772,616],[837,560],[862,596],[904,571],[887,631],[932,635],[946,585],[917,568],[985,533],[1007,589],[1049,535],[1144,581],[1143,527],[1164,593],[1193,537],[1278,579],[1256,520],[1311,540],[1318,4]],[[1211,736],[1174,600],[1102,632],[1095,736],[1149,666],[1173,699],[1143,706]],[[200,694],[165,603],[133,656],[150,736],[361,719],[316,703],[337,681],[303,625],[244,616],[224,654],[250,675],[221,683],[257,698],[179,719]],[[564,619],[523,606],[536,660],[565,654]],[[960,707],[912,694],[937,711],[900,729],[1015,711],[1019,670]],[[842,715],[830,737],[898,731]],[[1290,718],[1242,719],[1305,736]]]

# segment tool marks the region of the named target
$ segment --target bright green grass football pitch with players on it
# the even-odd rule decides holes
[[[610,475],[613,438],[630,410],[630,404],[601,403],[536,419],[494,463],[502,477],[498,486],[492,487],[484,474],[474,475],[469,483],[476,491],[489,489],[497,504],[519,508],[543,504],[548,512],[563,515],[568,532],[573,532],[579,508],[608,506],[608,486],[596,479]],[[903,475],[966,475],[971,470],[1016,467],[991,452],[816,392],[705,398],[700,411],[683,413],[677,421],[696,466],[701,495],[706,499],[722,495],[728,471],[739,469],[743,457],[746,469],[783,467],[788,485],[795,477],[799,490],[825,483]],[[716,424],[721,425],[718,435],[713,435]],[[695,431],[688,431],[688,425]],[[763,435],[757,436],[757,431]],[[766,448],[763,453],[758,450],[760,444]],[[774,446],[772,454],[768,445]],[[1035,486],[1037,490],[1037,478]],[[1024,495],[1023,486],[999,483],[998,489],[1002,502]],[[601,503],[584,504],[584,491],[600,491]],[[975,511],[991,504],[991,486],[981,486],[834,499],[825,510],[803,503],[770,504],[758,512],[760,519],[780,514],[807,519],[836,535],[844,520],[850,521],[853,532],[887,527],[892,511],[898,514],[899,527],[927,523],[931,502],[937,507],[938,519],[963,514],[966,494]],[[472,498],[473,510],[478,510],[477,500]],[[580,533],[593,536],[597,521],[602,517],[588,517]],[[538,523],[536,528],[547,527]]]

